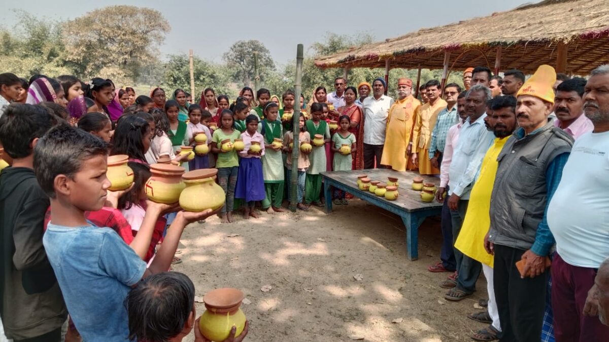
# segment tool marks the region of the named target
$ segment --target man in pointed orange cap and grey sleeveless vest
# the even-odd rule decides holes
[[[554,245],[546,207],[573,144],[548,120],[555,81],[554,68],[542,65],[519,89],[519,128],[497,158],[484,243],[495,255],[493,280],[504,341],[539,341],[543,326],[548,256]]]

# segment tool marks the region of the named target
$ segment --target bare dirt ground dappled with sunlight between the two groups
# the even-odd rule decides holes
[[[438,286],[448,273],[426,270],[439,260],[439,218],[423,223],[420,259],[410,262],[400,218],[365,201],[334,206],[329,215],[312,207],[235,217],[187,228],[183,263],[173,270],[191,277],[197,296],[220,287],[244,291],[248,341],[471,341],[486,326],[466,318],[486,298],[484,276],[473,297],[449,302]],[[261,291],[265,285],[272,289]],[[203,310],[197,304],[197,315]]]

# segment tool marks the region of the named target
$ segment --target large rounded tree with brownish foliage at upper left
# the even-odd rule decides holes
[[[97,9],[63,25],[66,63],[80,77],[133,80],[145,63],[157,59],[169,30],[157,10],[127,5]]]

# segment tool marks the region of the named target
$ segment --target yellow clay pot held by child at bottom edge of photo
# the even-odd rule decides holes
[[[236,288],[219,288],[206,293],[203,302],[207,310],[199,320],[203,336],[212,341],[224,341],[233,326],[237,327],[235,336],[239,336],[245,327],[245,314],[239,309],[243,298],[243,292]]]

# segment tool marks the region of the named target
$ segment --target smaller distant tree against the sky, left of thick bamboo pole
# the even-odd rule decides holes
[[[244,86],[250,86],[254,77],[254,51],[258,52],[258,72],[260,79],[264,80],[266,74],[275,70],[275,62],[270,56],[269,49],[260,41],[240,40],[222,55],[227,67],[234,69],[234,80],[243,82]]]

